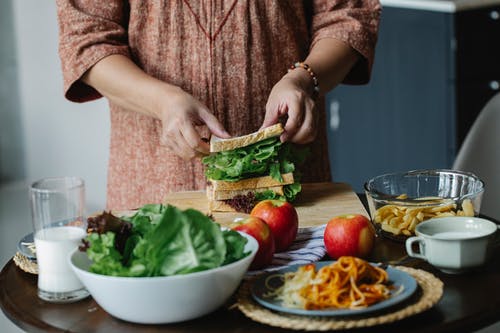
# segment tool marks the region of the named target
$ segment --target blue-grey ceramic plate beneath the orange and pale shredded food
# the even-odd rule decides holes
[[[325,265],[331,264],[332,261],[316,262],[314,265],[316,270],[320,269]],[[275,288],[279,288],[283,284],[281,275],[286,272],[294,272],[302,265],[293,265],[286,268],[272,271],[261,275],[257,278],[255,283],[252,285],[251,294],[252,297],[262,306],[269,308],[271,310],[286,312],[296,315],[307,315],[307,316],[353,316],[353,315],[364,315],[366,313],[371,313],[375,311],[386,310],[398,303],[401,303],[411,297],[417,290],[417,281],[408,273],[400,271],[396,268],[388,267],[387,273],[389,274],[389,281],[392,283],[394,288],[393,295],[390,298],[368,306],[362,309],[324,309],[324,310],[304,310],[285,307],[281,304],[280,300],[276,300],[273,297],[265,296],[270,291]],[[271,277],[270,276],[275,276]],[[267,280],[267,286],[266,286]],[[401,290],[400,287],[403,287]]]

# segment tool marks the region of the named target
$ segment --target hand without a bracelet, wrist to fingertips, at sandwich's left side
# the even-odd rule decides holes
[[[162,145],[184,159],[191,159],[209,153],[210,146],[200,133],[202,127],[218,137],[230,137],[208,108],[192,95],[177,87],[168,90],[159,97],[157,106]]]

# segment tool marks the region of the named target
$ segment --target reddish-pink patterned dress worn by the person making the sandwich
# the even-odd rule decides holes
[[[66,98],[100,98],[80,78],[100,59],[130,57],[153,77],[205,103],[229,133],[257,130],[273,85],[322,38],[361,55],[345,83],[365,83],[374,57],[377,0],[57,0]],[[321,84],[321,83],[320,83]],[[304,182],[330,180],[324,100]],[[110,104],[107,208],[158,203],[169,192],[203,189],[199,159],[159,143],[161,123]]]

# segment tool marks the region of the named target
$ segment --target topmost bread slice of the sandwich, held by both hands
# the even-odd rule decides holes
[[[283,125],[280,123],[263,128],[257,132],[250,133],[243,136],[238,136],[229,139],[222,139],[215,135],[210,138],[210,152],[217,153],[220,151],[227,151],[236,148],[246,147],[252,143],[256,143],[268,138],[281,135],[283,133]]]

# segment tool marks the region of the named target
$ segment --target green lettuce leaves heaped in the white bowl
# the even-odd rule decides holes
[[[113,232],[87,236],[92,272],[115,276],[187,274],[248,255],[244,252],[246,238],[236,232],[223,232],[194,209],[146,205],[126,219],[133,228],[123,255],[116,249]]]

